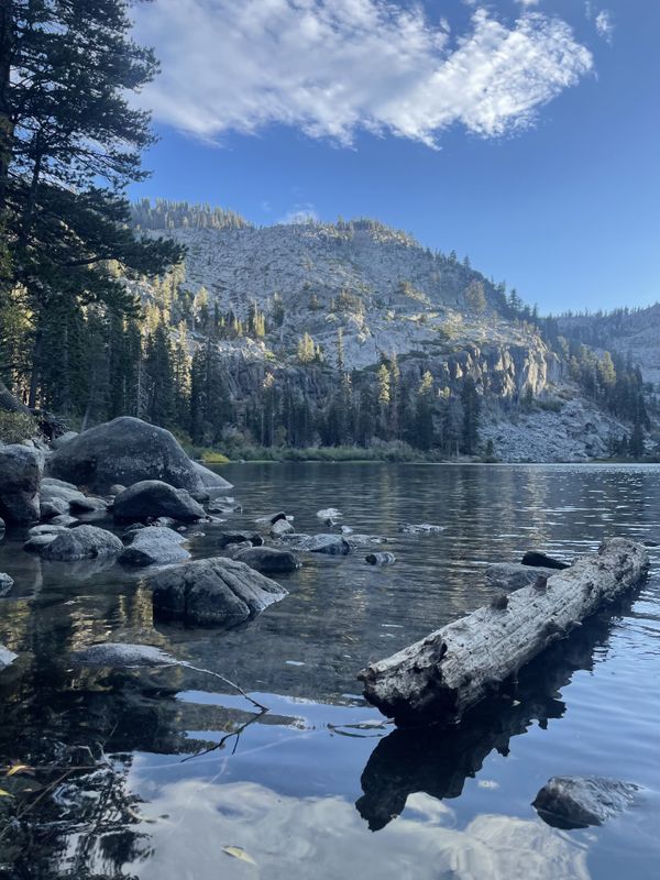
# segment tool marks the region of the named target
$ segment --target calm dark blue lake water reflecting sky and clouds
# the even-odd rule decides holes
[[[397,557],[310,558],[290,595],[230,632],[154,625],[140,576],[44,563],[0,544],[0,878],[657,880],[660,578],[597,617],[520,684],[519,703],[454,733],[395,730],[355,673],[484,604],[492,561],[570,559],[606,536],[660,536],[660,469],[232,465],[231,526],[286,509],[300,531],[338,507]],[[405,536],[400,522],[441,535]],[[217,552],[213,529],[193,538]],[[222,527],[220,527],[222,528]],[[193,529],[195,531],[195,529]],[[365,551],[366,552],[366,551]],[[653,560],[656,563],[659,558]],[[182,668],[75,669],[91,642],[157,645],[270,707]],[[220,686],[218,686],[220,685]],[[602,828],[561,832],[530,802],[554,774],[637,782]],[[242,847],[251,864],[223,853]]]

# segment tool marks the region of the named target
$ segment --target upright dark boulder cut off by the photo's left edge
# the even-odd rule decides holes
[[[0,515],[10,524],[38,522],[42,453],[20,444],[0,447]]]

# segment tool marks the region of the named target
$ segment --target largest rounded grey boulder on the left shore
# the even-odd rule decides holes
[[[117,483],[131,486],[143,480],[162,480],[190,492],[231,488],[227,480],[191,461],[169,431],[130,416],[74,437],[53,453],[48,473],[101,494]]]

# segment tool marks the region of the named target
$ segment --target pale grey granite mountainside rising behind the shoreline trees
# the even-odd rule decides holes
[[[482,443],[503,461],[604,457],[614,436],[628,433],[584,399],[529,309],[468,260],[372,220],[257,229],[208,217],[190,226],[139,216],[136,224],[152,235],[167,227],[187,248],[178,304],[194,345],[208,336],[202,310],[207,321],[212,311],[241,326],[263,316],[260,333],[215,334],[234,400],[272,375],[322,406],[343,372],[375,382],[378,364],[396,356],[409,387],[430,374],[435,393],[459,394],[470,377],[482,399]],[[157,296],[146,285],[142,294]],[[300,355],[305,334],[309,359]]]

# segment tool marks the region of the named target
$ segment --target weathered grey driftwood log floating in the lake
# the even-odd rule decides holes
[[[455,721],[496,692],[548,645],[566,635],[646,573],[646,549],[624,538],[606,541],[506,603],[479,608],[392,657],[359,679],[364,695],[397,724]],[[504,607],[503,607],[504,606]]]

